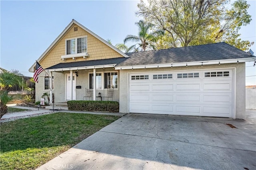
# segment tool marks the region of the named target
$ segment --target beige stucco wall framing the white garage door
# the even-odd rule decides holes
[[[133,70],[120,70],[120,112],[128,113],[128,73],[136,72],[156,72],[156,71],[178,71],[178,70],[201,70],[201,69],[216,69],[216,68],[236,68],[236,83],[233,90],[236,92],[236,119],[245,119],[245,63],[234,64],[214,64],[205,66],[182,66],[173,68],[147,68],[147,69],[133,69]]]

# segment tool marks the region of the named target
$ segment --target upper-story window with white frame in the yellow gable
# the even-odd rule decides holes
[[[66,40],[66,54],[87,53],[87,37]]]

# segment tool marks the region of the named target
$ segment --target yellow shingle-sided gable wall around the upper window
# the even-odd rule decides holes
[[[98,40],[96,37],[78,27],[78,31],[74,31],[74,27],[78,27],[78,25],[74,25],[71,29],[64,35],[64,37],[57,43],[57,45],[46,55],[46,57],[40,61],[40,65],[43,68],[48,68],[50,66],[56,65],[58,63],[68,63],[68,62],[77,62],[77,61],[86,61],[86,60],[99,60],[99,59],[110,59],[122,57],[119,53],[108,47],[106,44],[102,43],[102,41]],[[87,53],[90,55],[87,59],[83,59],[83,57],[73,59],[66,59],[66,61],[62,61],[60,58],[62,55],[65,55],[65,41],[66,39],[76,38],[81,36],[87,36]]]

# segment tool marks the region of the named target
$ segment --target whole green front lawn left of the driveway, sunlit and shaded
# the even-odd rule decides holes
[[[0,169],[36,169],[117,119],[53,113],[1,123]]]

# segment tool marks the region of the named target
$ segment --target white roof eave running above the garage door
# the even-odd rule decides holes
[[[213,60],[213,61],[195,61],[186,63],[166,63],[166,64],[147,64],[136,66],[116,66],[116,70],[126,69],[139,69],[139,68],[162,68],[162,67],[176,67],[176,66],[197,66],[197,65],[210,65],[210,64],[228,64],[228,63],[244,63],[254,61],[255,57],[240,58],[240,59],[225,59],[225,60]]]

